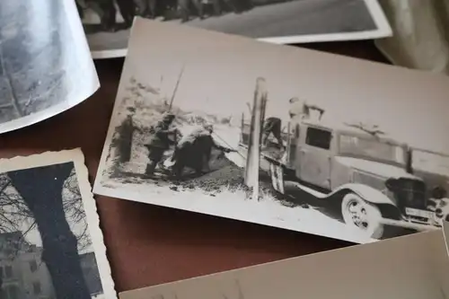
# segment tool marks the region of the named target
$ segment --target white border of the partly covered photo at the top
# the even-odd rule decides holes
[[[256,39],[274,44],[297,44],[297,43],[312,43],[312,42],[326,42],[326,41],[346,41],[346,40],[374,40],[392,37],[392,27],[388,22],[383,9],[377,0],[364,0],[366,8],[370,13],[375,26],[374,31],[361,31],[361,32],[348,32],[348,33],[325,33],[325,34],[306,34],[306,35],[293,35],[286,37],[271,37]],[[189,25],[181,25],[189,26]],[[201,29],[199,27],[199,29]],[[222,32],[223,33],[223,32]],[[239,34],[234,34],[239,35]],[[242,36],[243,38],[245,36]],[[250,39],[247,37],[247,39]],[[126,57],[128,48],[120,49],[106,49],[92,51],[93,59],[105,59],[114,57]]]

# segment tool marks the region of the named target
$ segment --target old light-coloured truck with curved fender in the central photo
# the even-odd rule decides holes
[[[243,150],[249,136],[242,119]],[[294,182],[321,203],[337,204],[337,218],[371,238],[382,238],[386,227],[436,229],[448,218],[445,154],[411,148],[376,128],[313,120],[289,122],[283,140],[281,154],[261,152],[260,168],[269,172],[273,188],[286,194],[286,181]],[[440,165],[440,171],[426,163]]]

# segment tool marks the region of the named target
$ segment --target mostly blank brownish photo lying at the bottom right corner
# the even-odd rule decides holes
[[[416,233],[119,294],[120,299],[447,299],[448,223]]]

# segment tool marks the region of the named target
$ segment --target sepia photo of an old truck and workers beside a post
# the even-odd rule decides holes
[[[137,18],[93,190],[350,242],[435,230],[448,92],[445,76]]]

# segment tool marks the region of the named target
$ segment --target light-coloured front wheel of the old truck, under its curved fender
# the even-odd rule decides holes
[[[370,238],[383,236],[382,214],[378,207],[360,198],[355,193],[348,193],[341,202],[341,214],[346,224],[360,229]]]

